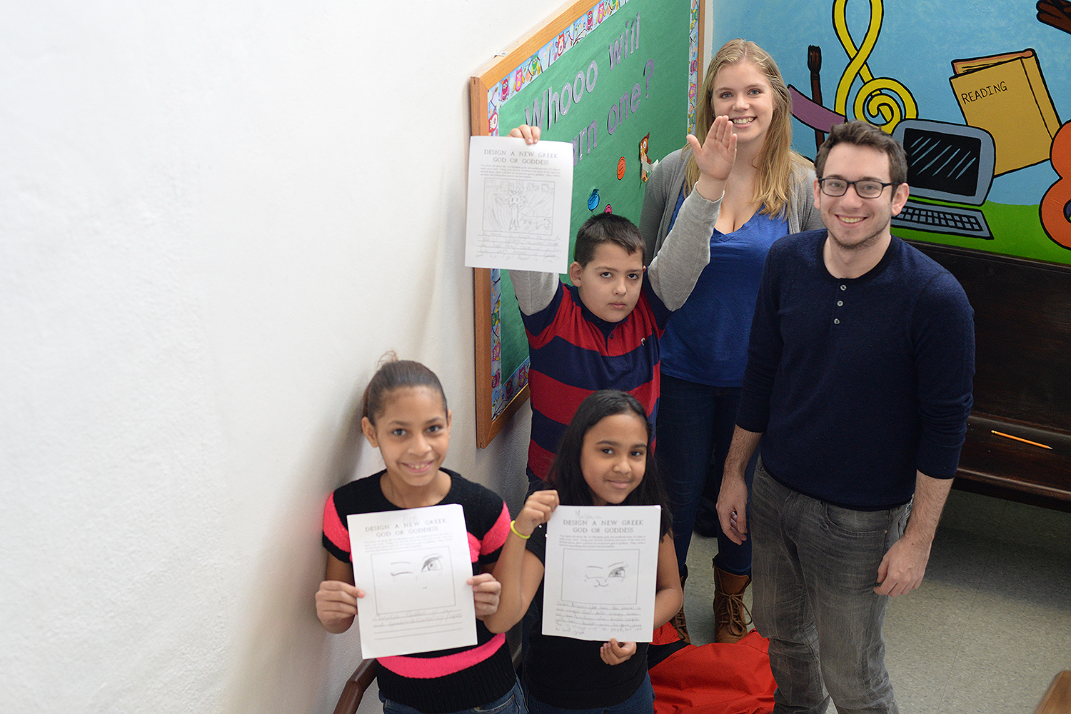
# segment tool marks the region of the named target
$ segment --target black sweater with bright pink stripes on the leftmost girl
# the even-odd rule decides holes
[[[494,491],[450,475],[450,491],[437,505],[459,503],[465,513],[472,575],[498,560],[510,534],[510,511]],[[350,514],[401,511],[379,487],[383,471],[335,489],[323,508],[323,547],[344,563],[350,560]],[[383,697],[428,714],[458,712],[500,699],[516,681],[504,635],[493,635],[476,621],[472,647],[379,657],[379,692]]]

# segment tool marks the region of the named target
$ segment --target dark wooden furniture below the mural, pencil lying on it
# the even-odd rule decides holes
[[[975,308],[975,405],[955,487],[1071,512],[1071,265],[911,244]]]

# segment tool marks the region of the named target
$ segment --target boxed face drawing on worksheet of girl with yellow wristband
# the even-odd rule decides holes
[[[639,550],[562,550],[561,599],[589,605],[635,605]]]

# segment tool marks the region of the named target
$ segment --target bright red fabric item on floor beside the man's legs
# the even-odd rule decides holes
[[[769,714],[768,650],[755,631],[735,644],[684,645],[650,669],[654,714]]]

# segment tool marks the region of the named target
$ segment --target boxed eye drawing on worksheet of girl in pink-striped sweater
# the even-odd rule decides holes
[[[376,611],[382,614],[452,607],[451,573],[448,551],[410,550],[373,556]]]

